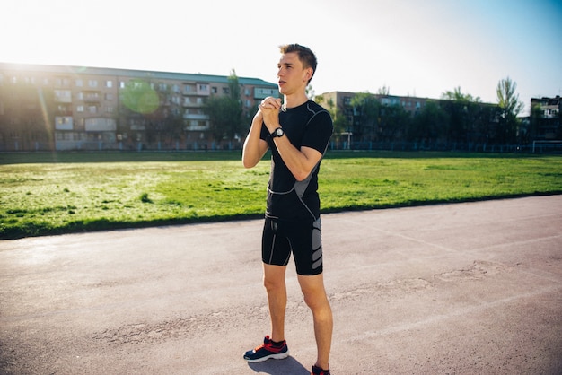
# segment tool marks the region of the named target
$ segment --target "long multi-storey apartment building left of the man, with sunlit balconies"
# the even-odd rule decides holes
[[[243,113],[278,96],[277,84],[238,77]],[[0,151],[199,150],[217,141],[206,98],[227,95],[228,76],[0,63]]]

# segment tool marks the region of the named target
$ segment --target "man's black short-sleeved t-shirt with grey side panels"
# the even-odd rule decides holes
[[[285,131],[285,136],[297,149],[306,146],[322,154],[326,153],[333,125],[329,112],[316,102],[308,100],[298,107],[279,112],[279,123]],[[306,179],[297,181],[285,166],[265,125],[262,125],[260,137],[268,142],[271,149],[266,216],[292,222],[318,219],[318,172],[321,161]]]

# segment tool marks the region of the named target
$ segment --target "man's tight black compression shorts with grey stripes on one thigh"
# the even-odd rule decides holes
[[[261,239],[261,259],[268,265],[286,266],[294,256],[298,275],[322,273],[321,220],[283,222],[266,218]]]

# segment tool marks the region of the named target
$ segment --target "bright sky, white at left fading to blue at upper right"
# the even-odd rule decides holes
[[[278,46],[318,57],[316,94],[496,103],[509,77],[562,95],[562,0],[3,0],[0,62],[229,75],[277,83]],[[523,113],[524,114],[524,113]]]

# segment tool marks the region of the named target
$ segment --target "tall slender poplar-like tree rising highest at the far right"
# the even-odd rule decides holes
[[[515,93],[517,83],[507,77],[497,83],[497,105],[500,108],[499,135],[500,142],[514,142],[517,134],[519,120],[517,115],[523,109],[523,103],[519,100],[519,94]]]

